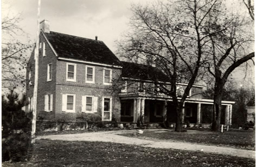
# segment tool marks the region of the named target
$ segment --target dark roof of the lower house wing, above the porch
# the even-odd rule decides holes
[[[160,69],[149,65],[122,61],[122,77],[138,80],[169,82],[169,78]]]

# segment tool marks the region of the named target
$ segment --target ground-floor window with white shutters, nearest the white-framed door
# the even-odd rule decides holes
[[[98,97],[94,97],[92,95],[82,96],[82,112],[97,113]]]

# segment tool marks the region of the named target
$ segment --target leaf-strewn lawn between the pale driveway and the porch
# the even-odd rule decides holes
[[[196,131],[175,132],[174,130],[144,130],[143,134],[124,133],[126,137],[138,137],[140,139],[161,139],[172,142],[200,143],[207,145],[236,147],[239,149],[255,150],[255,132],[253,130],[241,131]]]

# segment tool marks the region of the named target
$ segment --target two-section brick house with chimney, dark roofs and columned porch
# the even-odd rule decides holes
[[[168,119],[175,123],[171,98],[159,93],[168,78],[156,67],[121,62],[103,41],[56,33],[49,21],[40,23],[39,85],[37,118],[44,120],[125,121],[145,123]],[[27,65],[27,98],[31,111],[34,82],[34,51]],[[121,78],[121,88],[114,80]],[[183,91],[185,84],[177,84]],[[183,121],[204,123],[201,105],[213,100],[202,98],[203,86],[194,85],[184,105]],[[117,91],[119,90],[119,91]],[[179,92],[178,91],[178,92]],[[233,101],[222,101],[225,124],[231,124]],[[167,115],[167,117],[165,117]],[[205,122],[206,123],[206,122]]]

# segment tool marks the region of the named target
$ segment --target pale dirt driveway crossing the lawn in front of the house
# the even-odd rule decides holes
[[[66,140],[66,141],[91,141],[91,142],[112,142],[121,144],[139,145],[144,147],[155,147],[163,149],[180,149],[190,151],[203,151],[209,153],[218,153],[223,155],[231,155],[238,157],[254,158],[255,151],[234,149],[231,147],[209,146],[201,144],[191,144],[182,142],[169,142],[166,140],[153,139],[138,139],[131,137],[124,137],[118,134],[121,133],[136,133],[136,131],[107,131],[107,132],[92,132],[92,133],[78,133],[78,134],[57,134],[49,136],[39,136],[37,139],[51,139],[51,140]]]

